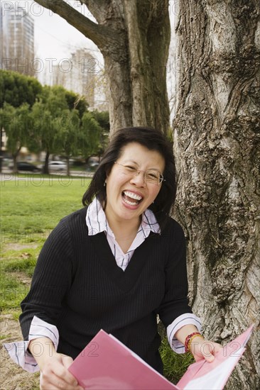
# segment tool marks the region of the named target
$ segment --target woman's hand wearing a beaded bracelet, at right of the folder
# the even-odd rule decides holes
[[[205,340],[201,337],[195,337],[190,342],[190,352],[193,354],[196,362],[205,359],[207,362],[213,362],[214,355],[222,350],[222,346],[217,342]]]

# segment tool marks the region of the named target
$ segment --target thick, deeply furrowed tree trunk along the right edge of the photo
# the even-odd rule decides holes
[[[175,216],[190,302],[206,337],[223,344],[254,323],[227,389],[259,389],[259,5],[178,4]]]

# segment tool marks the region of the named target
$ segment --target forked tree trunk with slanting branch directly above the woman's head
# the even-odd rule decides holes
[[[104,56],[112,132],[125,126],[168,130],[167,0],[82,0],[97,23],[63,0],[36,0],[90,38]]]

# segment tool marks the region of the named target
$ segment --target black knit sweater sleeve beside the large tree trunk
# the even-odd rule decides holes
[[[167,327],[175,318],[192,313],[192,310],[188,304],[185,235],[183,228],[173,219],[169,223],[164,240],[168,246],[165,266],[166,291],[158,314],[163,325]]]

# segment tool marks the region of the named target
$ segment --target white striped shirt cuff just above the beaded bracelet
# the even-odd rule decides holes
[[[195,325],[199,332],[202,328],[200,318],[195,316],[193,313],[185,313],[175,318],[175,320],[167,327],[167,337],[170,347],[177,353],[185,352],[185,346],[183,343],[175,338],[175,333],[184,325]]]

